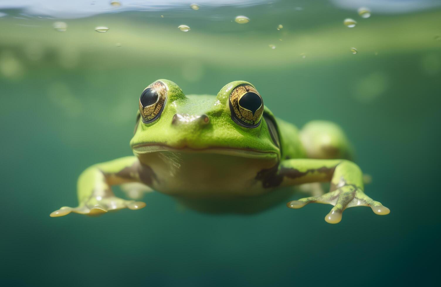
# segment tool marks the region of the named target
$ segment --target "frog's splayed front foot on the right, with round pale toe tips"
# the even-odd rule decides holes
[[[389,208],[383,206],[380,202],[374,201],[364,192],[354,185],[344,185],[335,191],[330,191],[324,195],[306,197],[299,200],[293,200],[287,203],[289,208],[301,208],[308,203],[327,203],[334,207],[325,217],[328,223],[339,223],[341,221],[343,211],[348,207],[354,206],[370,206],[372,211],[378,215],[389,214]]]

